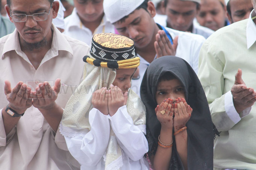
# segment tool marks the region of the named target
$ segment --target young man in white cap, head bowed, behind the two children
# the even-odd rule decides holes
[[[117,31],[135,41],[136,52],[141,59],[139,78],[132,80],[132,89],[137,94],[147,66],[164,55],[185,59],[197,72],[198,54],[204,37],[156,24],[153,19],[155,6],[148,0],[104,0],[103,8]]]

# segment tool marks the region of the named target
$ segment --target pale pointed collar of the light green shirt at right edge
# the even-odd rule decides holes
[[[256,16],[254,10],[252,10],[250,13],[246,27],[247,49],[249,49],[256,41],[256,25],[251,19],[253,16]]]

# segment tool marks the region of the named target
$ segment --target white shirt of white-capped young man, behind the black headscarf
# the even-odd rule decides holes
[[[197,35],[186,33],[183,31],[173,30],[171,28],[165,28],[174,39],[175,36],[179,36],[178,38],[178,46],[176,50],[176,56],[183,58],[186,60],[190,66],[194,69],[195,73],[198,72],[198,57],[200,48],[204,42],[204,37]],[[139,64],[139,79],[132,80],[132,90],[135,91],[140,96],[140,86],[141,81],[144,76],[144,73],[150,63],[148,63],[143,57],[141,58]]]

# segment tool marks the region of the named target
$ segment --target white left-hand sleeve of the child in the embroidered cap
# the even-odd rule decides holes
[[[65,137],[71,155],[83,166],[96,166],[103,158],[109,142],[108,116],[93,108],[89,112],[91,130],[85,136]]]

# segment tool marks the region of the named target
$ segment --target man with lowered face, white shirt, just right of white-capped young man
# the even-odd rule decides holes
[[[179,31],[188,31],[208,38],[214,31],[203,27],[194,18],[198,15],[201,0],[164,0],[167,27]]]

